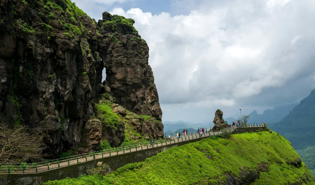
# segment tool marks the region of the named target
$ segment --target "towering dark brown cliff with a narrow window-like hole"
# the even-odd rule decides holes
[[[107,12],[96,23],[69,0],[0,0],[1,121],[29,125],[52,157],[82,142],[97,150],[100,137],[123,142],[123,124],[106,134],[90,120],[100,94],[160,121],[148,46],[133,23]],[[163,125],[154,126],[162,127],[154,137],[163,136]]]

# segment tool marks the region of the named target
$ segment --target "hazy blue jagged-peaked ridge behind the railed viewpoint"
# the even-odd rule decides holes
[[[289,104],[284,106],[275,107],[274,109],[266,109],[264,110],[264,113],[257,114],[256,110],[253,110],[249,114],[249,123],[261,123],[262,121],[264,123],[275,123],[277,121],[280,121],[282,118],[284,118],[286,115],[289,114],[289,112],[296,106],[297,104]],[[233,117],[234,116],[234,117]],[[224,120],[228,123],[231,123],[232,121],[236,121],[237,118],[240,116],[240,113],[234,114],[228,118],[225,118]]]

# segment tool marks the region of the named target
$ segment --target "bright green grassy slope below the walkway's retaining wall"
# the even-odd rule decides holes
[[[213,160],[205,155],[213,156]],[[261,135],[243,133],[228,139],[206,138],[168,149],[144,162],[125,165],[104,177],[67,178],[44,185],[221,184],[226,178],[224,174],[238,177],[241,169],[257,171],[257,166],[262,163],[269,165],[268,173],[260,172],[260,178],[252,184],[315,184],[303,162],[298,167],[287,164],[298,159],[299,155],[290,143],[275,132],[262,132]]]

